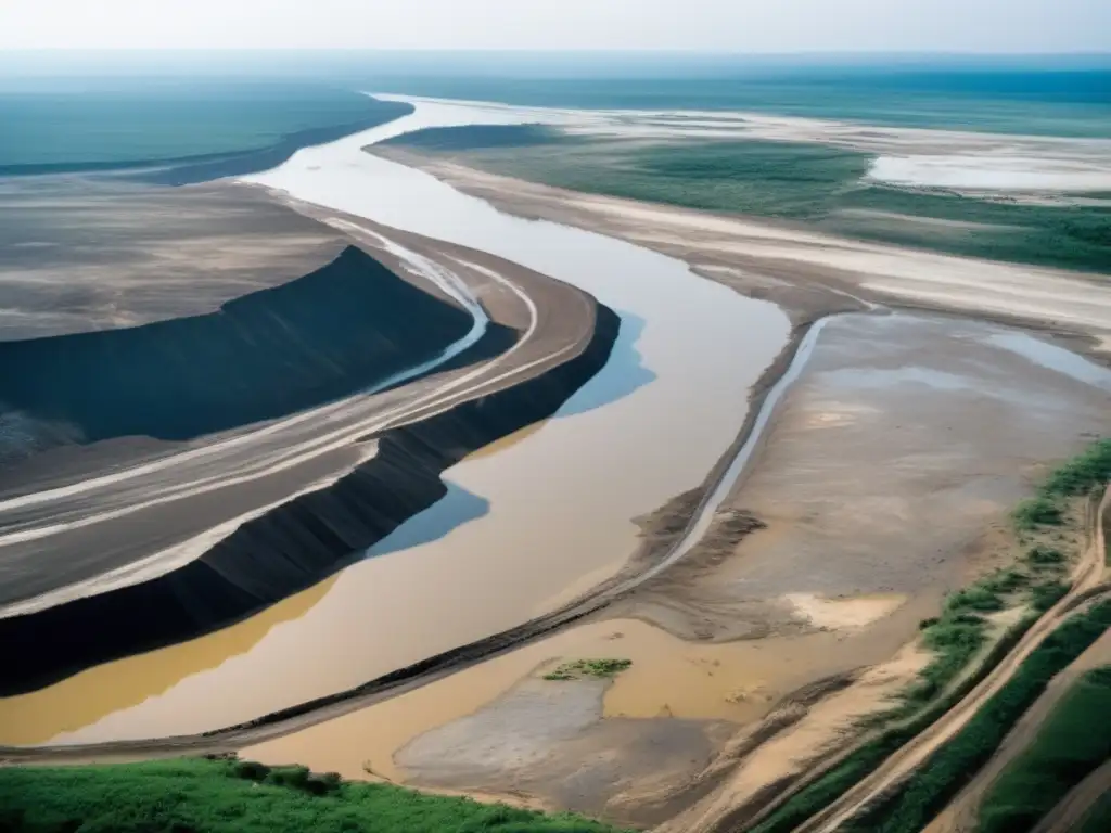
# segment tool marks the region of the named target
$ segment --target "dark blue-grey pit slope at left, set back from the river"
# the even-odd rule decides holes
[[[84,442],[184,440],[350,395],[434,359],[472,324],[348,247],[208,314],[0,342],[0,410],[68,425]],[[490,329],[498,343],[486,354],[512,343],[512,331]]]

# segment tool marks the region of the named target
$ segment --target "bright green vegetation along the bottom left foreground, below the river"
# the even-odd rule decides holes
[[[4,833],[615,833],[298,766],[178,760],[117,766],[0,769]]]

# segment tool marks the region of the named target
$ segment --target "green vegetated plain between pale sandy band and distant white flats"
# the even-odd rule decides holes
[[[440,128],[399,145],[577,191],[810,223],[965,257],[1111,270],[1111,208],[1039,205],[867,179],[871,155],[763,140],[630,141],[534,126]]]

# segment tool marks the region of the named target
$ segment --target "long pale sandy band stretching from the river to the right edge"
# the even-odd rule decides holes
[[[1105,351],[1100,343],[1111,338],[1111,281],[1099,277],[584,194],[397,148],[376,148],[374,152],[419,167],[510,213],[591,229],[685,260],[711,280],[780,303],[797,321],[854,304],[859,308],[863,299],[1079,335],[1085,349],[1097,352]]]

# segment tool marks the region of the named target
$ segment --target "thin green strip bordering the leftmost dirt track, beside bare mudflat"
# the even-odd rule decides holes
[[[790,833],[804,821],[829,806],[845,791],[874,772],[901,746],[913,740],[957,705],[1011,652],[1035,621],[1038,618],[1031,615],[1009,630],[992,646],[975,674],[970,675],[954,691],[920,711],[912,719],[891,726],[852,752],[837,766],[784,802],[783,806],[769,815],[754,829],[753,833]]]

